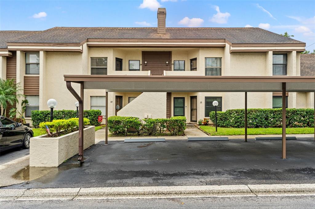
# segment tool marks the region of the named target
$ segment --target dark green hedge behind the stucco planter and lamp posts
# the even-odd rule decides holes
[[[91,126],[99,126],[98,116],[102,115],[100,110],[84,110],[84,118],[89,119]],[[76,110],[54,110],[53,120],[70,119],[77,116]],[[42,122],[50,121],[50,110],[33,110],[31,114],[32,125],[39,127]]]

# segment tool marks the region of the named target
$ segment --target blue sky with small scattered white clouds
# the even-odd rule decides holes
[[[167,27],[261,27],[287,31],[315,49],[315,1],[5,1],[1,30],[72,27],[156,27],[158,7]],[[313,44],[313,45],[312,45]],[[312,46],[310,46],[312,45]]]

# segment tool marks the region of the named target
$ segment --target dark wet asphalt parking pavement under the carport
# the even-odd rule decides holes
[[[154,143],[99,142],[58,168],[24,168],[13,175],[26,183],[3,188],[315,183],[313,138],[287,141],[230,140]]]

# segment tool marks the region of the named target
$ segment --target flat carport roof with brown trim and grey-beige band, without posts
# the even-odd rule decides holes
[[[314,92],[315,76],[126,76],[64,75],[84,89],[108,92]]]

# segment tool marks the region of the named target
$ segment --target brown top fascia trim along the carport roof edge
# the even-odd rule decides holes
[[[112,82],[312,82],[315,76],[125,76],[125,75],[64,75],[65,81]]]

